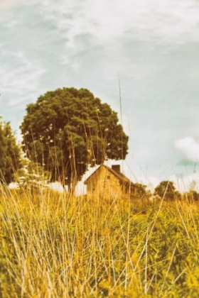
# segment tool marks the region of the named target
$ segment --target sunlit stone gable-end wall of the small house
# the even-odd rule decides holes
[[[119,179],[106,167],[99,169],[87,180],[87,197],[120,197],[122,187]]]

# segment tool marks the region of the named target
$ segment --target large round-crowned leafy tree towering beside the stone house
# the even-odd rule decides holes
[[[52,173],[52,180],[70,186],[88,165],[127,155],[128,136],[117,113],[87,89],[47,92],[26,111],[21,124],[23,148],[28,158]]]

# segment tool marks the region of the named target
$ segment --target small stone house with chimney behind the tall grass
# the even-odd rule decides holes
[[[100,165],[84,182],[87,185],[87,197],[121,197],[134,195],[135,184],[122,172],[120,165]]]

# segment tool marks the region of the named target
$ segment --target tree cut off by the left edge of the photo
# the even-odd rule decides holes
[[[21,164],[20,151],[10,124],[0,118],[0,182],[12,181]]]

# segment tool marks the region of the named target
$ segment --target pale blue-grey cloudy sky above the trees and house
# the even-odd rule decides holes
[[[1,0],[0,114],[19,135],[41,94],[89,89],[129,136],[126,175],[199,191],[198,46],[199,0]]]

